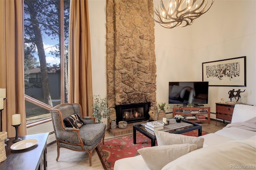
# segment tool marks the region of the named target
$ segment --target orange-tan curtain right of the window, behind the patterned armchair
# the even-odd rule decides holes
[[[92,69],[87,0],[70,0],[68,102],[79,103],[92,116]]]

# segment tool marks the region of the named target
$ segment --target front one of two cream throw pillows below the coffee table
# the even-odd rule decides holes
[[[141,148],[138,152],[146,162],[148,168],[151,170],[160,170],[169,162],[196,149],[196,144],[173,144]]]

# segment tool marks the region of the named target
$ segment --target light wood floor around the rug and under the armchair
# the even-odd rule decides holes
[[[208,123],[202,123],[202,130],[208,133],[214,133],[217,130],[222,129],[227,123],[217,122],[211,120],[210,125]],[[116,136],[115,136],[116,137]],[[105,139],[114,138],[108,131],[106,131]],[[60,158],[58,162],[57,157],[57,146],[54,142],[47,146],[47,166],[49,170],[60,170],[60,169],[73,169],[73,170],[104,170],[100,162],[100,158],[96,150],[92,153],[92,166],[89,165],[89,157],[85,152],[76,152],[64,148],[60,148]]]

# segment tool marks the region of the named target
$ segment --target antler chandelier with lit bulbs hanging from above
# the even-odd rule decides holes
[[[152,18],[164,28],[191,25],[194,20],[206,13],[214,0],[170,0],[168,8],[160,0],[160,7],[154,8]]]

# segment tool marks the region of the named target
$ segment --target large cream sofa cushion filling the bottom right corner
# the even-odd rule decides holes
[[[207,146],[194,150],[166,164],[162,170],[228,170],[256,167],[254,139]]]

